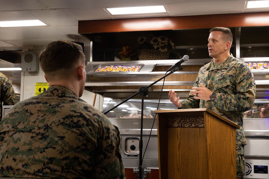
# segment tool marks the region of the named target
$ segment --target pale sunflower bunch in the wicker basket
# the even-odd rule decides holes
[[[160,52],[169,52],[172,58],[178,59],[180,57],[179,53],[175,50],[175,44],[171,39],[163,35],[154,36],[153,34],[148,34],[146,36],[140,36],[137,39],[138,49],[155,49]],[[171,56],[170,55],[170,56]]]

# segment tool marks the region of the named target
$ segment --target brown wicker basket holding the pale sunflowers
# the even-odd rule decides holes
[[[138,60],[167,60],[169,52],[159,50],[142,49],[138,51]]]

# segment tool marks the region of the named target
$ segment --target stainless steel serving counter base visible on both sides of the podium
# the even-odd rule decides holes
[[[126,168],[134,171],[139,166],[140,118],[109,118],[119,127],[122,140],[122,159]],[[157,121],[143,120],[142,170],[158,169]],[[151,127],[153,130],[151,131]],[[248,145],[245,146],[245,178],[269,179],[269,119],[243,119]],[[150,136],[151,132],[151,137]],[[149,142],[148,139],[150,138]],[[148,142],[148,147],[146,145]],[[144,173],[147,178],[147,173]]]

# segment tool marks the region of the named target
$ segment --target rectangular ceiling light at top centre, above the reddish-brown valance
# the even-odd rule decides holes
[[[146,14],[146,13],[163,13],[167,12],[163,5],[161,6],[137,6],[122,8],[107,8],[111,15],[123,14]]]

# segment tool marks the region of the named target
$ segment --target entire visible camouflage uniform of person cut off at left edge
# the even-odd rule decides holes
[[[16,96],[10,80],[0,72],[0,121],[2,119],[2,103],[3,105],[15,105]]]

